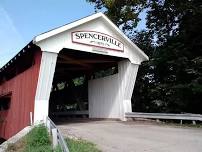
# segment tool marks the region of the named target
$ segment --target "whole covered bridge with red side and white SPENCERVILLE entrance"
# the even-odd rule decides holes
[[[102,13],[36,36],[0,69],[0,137],[62,113],[124,120],[145,60]]]

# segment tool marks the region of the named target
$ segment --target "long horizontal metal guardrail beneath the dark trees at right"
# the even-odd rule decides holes
[[[148,118],[148,119],[169,119],[169,120],[190,120],[195,124],[195,121],[202,121],[200,114],[171,114],[171,113],[142,113],[142,112],[127,112],[126,118]]]

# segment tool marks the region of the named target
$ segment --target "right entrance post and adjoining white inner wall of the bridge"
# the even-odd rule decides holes
[[[138,65],[128,60],[119,62],[118,73],[89,80],[88,102],[90,118],[119,118],[132,112],[131,97]]]

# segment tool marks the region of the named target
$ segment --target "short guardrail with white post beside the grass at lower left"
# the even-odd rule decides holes
[[[51,135],[53,137],[53,148],[56,148],[57,145],[59,144],[59,146],[63,152],[69,152],[67,144],[66,144],[60,130],[57,128],[57,126],[54,124],[54,122],[49,117],[47,117],[47,119],[46,119],[46,126],[49,130],[49,133],[51,133]]]

